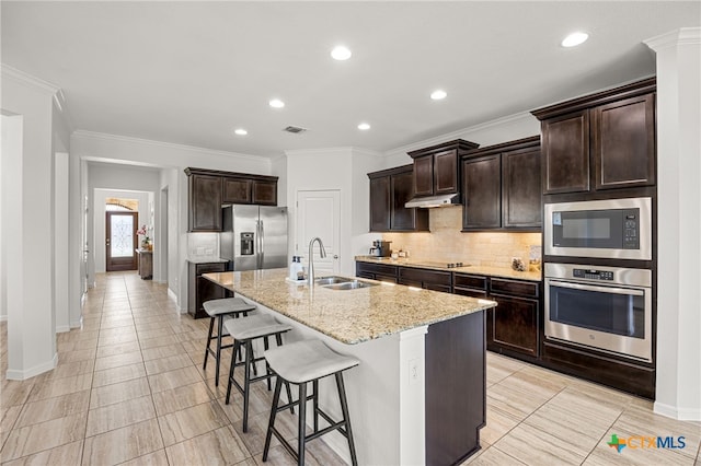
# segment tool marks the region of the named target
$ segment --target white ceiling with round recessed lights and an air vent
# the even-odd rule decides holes
[[[272,156],[387,151],[652,75],[642,40],[699,26],[701,2],[3,0],[1,14],[2,62],[61,88],[76,129]],[[561,47],[575,30],[589,40]],[[350,60],[331,59],[340,43]]]

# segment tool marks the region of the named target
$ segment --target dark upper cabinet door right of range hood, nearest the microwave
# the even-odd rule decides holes
[[[542,226],[540,149],[502,154],[502,225]]]

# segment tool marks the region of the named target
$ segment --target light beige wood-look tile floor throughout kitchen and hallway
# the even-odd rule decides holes
[[[254,384],[249,432],[226,369],[202,370],[206,319],[176,312],[166,289],[134,272],[100,275],[83,328],[57,336],[58,366],[0,385],[2,465],[261,465],[271,395]],[[0,372],[7,324],[0,324]],[[229,366],[228,357],[222,368]],[[281,415],[288,436],[295,418]],[[652,403],[519,361],[487,356],[487,426],[470,465],[701,465],[701,423],[652,412]],[[609,447],[612,434],[683,435],[678,450]],[[268,463],[292,464],[274,442]],[[308,464],[342,464],[322,442]]]

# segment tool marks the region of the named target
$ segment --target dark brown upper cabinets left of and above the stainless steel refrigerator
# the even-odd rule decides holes
[[[220,232],[225,203],[277,206],[277,176],[193,167],[185,175],[189,232]]]

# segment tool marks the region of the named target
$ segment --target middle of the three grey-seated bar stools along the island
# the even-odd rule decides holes
[[[251,392],[251,382],[257,382],[267,380],[267,389],[271,389],[271,377],[275,376],[265,363],[265,374],[257,375],[255,372],[255,364],[260,361],[265,361],[265,358],[255,358],[253,353],[253,340],[257,338],[263,339],[264,349],[269,348],[268,337],[274,336],[275,342],[278,347],[283,346],[283,334],[291,330],[292,327],[285,324],[279,324],[272,315],[268,314],[255,314],[246,318],[229,319],[225,323],[225,327],[229,335],[233,337],[233,352],[239,353],[241,346],[245,350],[245,358],[242,362],[237,362],[235,358],[231,358],[231,365],[229,368],[229,384],[227,385],[227,405],[231,397],[231,386],[235,385],[237,389],[243,395],[243,432],[249,430],[249,395]],[[243,365],[243,386],[233,378],[233,372],[235,368]],[[254,376],[251,376],[251,368],[254,370]],[[287,397],[291,398],[291,392],[289,384],[287,384]],[[292,412],[295,412],[292,410]]]

